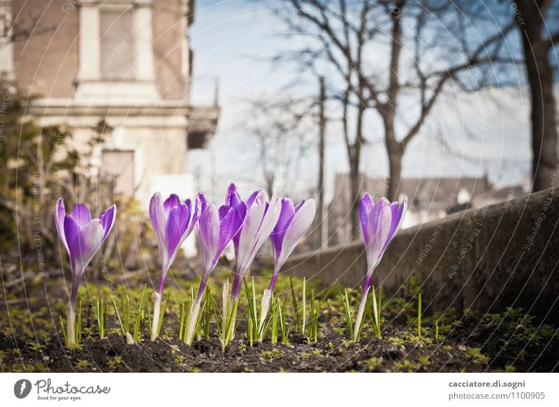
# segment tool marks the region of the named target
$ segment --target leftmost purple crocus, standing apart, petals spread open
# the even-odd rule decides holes
[[[115,224],[116,213],[117,207],[112,205],[101,213],[99,219],[92,219],[87,206],[78,203],[71,213],[66,214],[64,200],[59,198],[57,201],[55,224],[58,236],[68,252],[72,269],[72,292],[66,331],[71,345],[75,345],[75,301],[80,280]]]

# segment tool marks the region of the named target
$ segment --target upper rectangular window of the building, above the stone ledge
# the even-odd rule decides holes
[[[134,78],[133,10],[101,9],[99,12],[100,77],[107,80]]]

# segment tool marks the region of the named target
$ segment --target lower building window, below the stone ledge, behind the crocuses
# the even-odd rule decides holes
[[[101,182],[112,185],[115,194],[133,197],[134,151],[103,150],[101,153]]]

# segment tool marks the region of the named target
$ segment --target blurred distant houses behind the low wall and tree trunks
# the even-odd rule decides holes
[[[363,176],[360,184],[360,196],[369,192],[375,201],[387,196],[386,178]],[[491,193],[493,190],[494,185],[488,180],[487,175],[480,178],[404,178],[400,188],[400,199],[404,195],[407,196],[409,210],[402,227],[437,220],[458,210],[484,206],[489,202],[489,197],[494,203],[502,196],[506,198],[509,193],[509,189],[504,189],[494,195]],[[516,195],[518,191],[521,191],[521,188],[516,190]],[[350,202],[349,174],[337,173],[334,198],[328,206],[328,245],[349,241]]]

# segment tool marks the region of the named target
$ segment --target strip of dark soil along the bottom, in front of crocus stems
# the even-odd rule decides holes
[[[474,325],[468,321],[465,327]],[[467,328],[466,328],[467,329]],[[483,329],[482,329],[483,330]],[[389,339],[363,338],[347,343],[331,329],[318,343],[292,335],[288,345],[233,341],[222,353],[218,338],[195,343],[193,347],[177,339],[142,341],[126,345],[122,336],[103,340],[84,339],[78,349],[67,349],[61,338],[52,338],[41,350],[22,346],[14,338],[0,334],[4,351],[3,370],[11,371],[117,371],[117,372],[386,372],[386,371],[558,371],[558,343],[525,352],[522,344],[503,348],[486,343],[488,336],[501,338],[505,331],[485,329],[476,338],[459,341],[426,340],[410,336],[409,341],[392,344],[402,336],[398,329],[384,332]],[[476,334],[477,335],[477,334]],[[460,336],[457,334],[456,336]],[[19,349],[19,352],[8,352]]]

